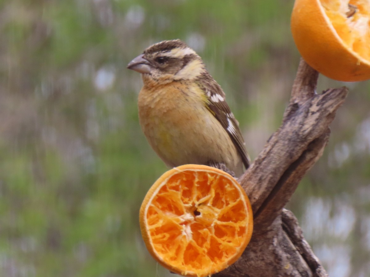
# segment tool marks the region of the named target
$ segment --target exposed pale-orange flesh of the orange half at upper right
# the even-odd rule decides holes
[[[360,57],[370,61],[369,1],[320,0],[320,3],[343,43]]]

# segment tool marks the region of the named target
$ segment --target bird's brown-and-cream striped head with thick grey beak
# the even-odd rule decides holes
[[[151,45],[127,65],[142,73],[145,82],[158,84],[198,78],[205,66],[193,49],[181,40],[165,40]]]

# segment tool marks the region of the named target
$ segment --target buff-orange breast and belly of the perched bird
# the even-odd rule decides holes
[[[206,107],[202,91],[171,84],[139,93],[139,121],[154,151],[171,166],[224,162],[232,170],[240,157],[215,116]],[[240,163],[241,166],[241,163]]]

